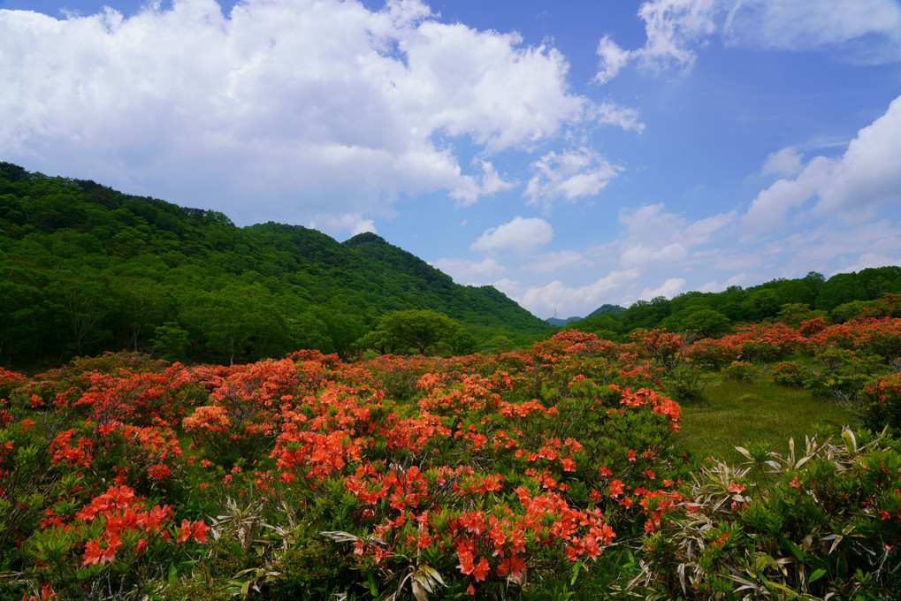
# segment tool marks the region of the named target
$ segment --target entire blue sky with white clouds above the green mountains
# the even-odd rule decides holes
[[[542,318],[901,265],[901,2],[0,0],[0,160]]]

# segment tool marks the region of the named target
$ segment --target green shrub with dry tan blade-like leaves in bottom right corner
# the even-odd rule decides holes
[[[648,599],[896,599],[901,455],[896,442],[808,441],[700,470],[690,503],[651,533],[622,592]]]

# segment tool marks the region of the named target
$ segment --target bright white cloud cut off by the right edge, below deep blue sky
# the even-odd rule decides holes
[[[860,221],[876,205],[901,200],[901,96],[886,114],[858,132],[840,159],[815,157],[794,179],[782,178],[753,200],[742,218],[751,232],[784,224],[787,213],[803,210],[819,216],[839,215]]]

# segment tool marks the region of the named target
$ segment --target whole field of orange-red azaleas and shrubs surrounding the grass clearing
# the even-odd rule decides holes
[[[779,384],[896,425],[899,355],[901,320],[878,315],[451,359],[0,369],[0,599],[896,598],[889,433],[732,467],[676,450],[673,399],[779,361]]]

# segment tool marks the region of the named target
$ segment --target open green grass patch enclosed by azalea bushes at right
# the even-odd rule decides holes
[[[741,463],[736,446],[763,444],[786,452],[789,438],[803,443],[805,436],[839,433],[843,425],[857,424],[848,410],[803,388],[777,386],[764,377],[716,381],[705,387],[703,401],[682,405],[677,444],[699,458]]]

